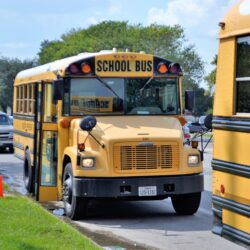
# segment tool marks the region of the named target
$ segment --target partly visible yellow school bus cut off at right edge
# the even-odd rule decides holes
[[[213,115],[213,232],[250,245],[249,0],[220,23]]]

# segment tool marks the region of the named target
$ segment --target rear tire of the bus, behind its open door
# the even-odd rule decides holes
[[[33,178],[33,168],[31,166],[30,151],[26,150],[24,155],[23,163],[23,180],[24,186],[29,193],[33,192],[34,178]]]

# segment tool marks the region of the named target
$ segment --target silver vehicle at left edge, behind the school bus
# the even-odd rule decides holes
[[[13,126],[7,114],[0,112],[0,150],[9,149],[14,152],[13,147]]]

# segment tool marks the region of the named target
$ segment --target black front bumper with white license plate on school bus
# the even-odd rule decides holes
[[[73,181],[73,194],[86,198],[157,199],[204,190],[202,174],[126,178],[81,178]]]

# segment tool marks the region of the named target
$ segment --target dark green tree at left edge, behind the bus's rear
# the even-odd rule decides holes
[[[4,112],[7,107],[12,107],[13,83],[17,73],[34,65],[34,60],[0,58],[0,108]]]

